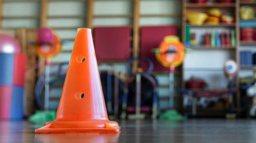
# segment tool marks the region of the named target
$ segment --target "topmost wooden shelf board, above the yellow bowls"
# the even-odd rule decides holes
[[[206,3],[206,4],[196,4],[196,3],[187,3],[185,5],[187,8],[209,8],[209,7],[236,7],[235,3]]]

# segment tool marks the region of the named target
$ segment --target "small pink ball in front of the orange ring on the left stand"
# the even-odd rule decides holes
[[[52,29],[48,27],[39,28],[37,39],[39,43],[51,43],[53,40]]]

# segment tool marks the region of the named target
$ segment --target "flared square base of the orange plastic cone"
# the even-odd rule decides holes
[[[115,121],[50,121],[35,133],[120,133]]]

